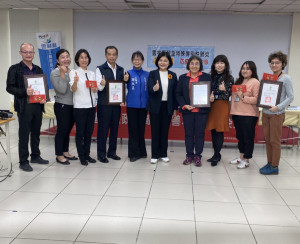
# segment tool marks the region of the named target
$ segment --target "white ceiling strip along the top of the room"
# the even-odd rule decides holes
[[[300,0],[0,0],[0,8],[291,13]]]

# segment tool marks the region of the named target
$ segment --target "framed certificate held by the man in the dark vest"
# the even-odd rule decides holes
[[[107,105],[125,103],[125,84],[122,80],[108,80],[106,83]]]

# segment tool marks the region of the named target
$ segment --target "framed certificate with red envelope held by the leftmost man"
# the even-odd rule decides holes
[[[33,89],[33,95],[27,96],[28,103],[40,103],[50,101],[47,77],[45,74],[24,75],[25,89],[29,86]]]

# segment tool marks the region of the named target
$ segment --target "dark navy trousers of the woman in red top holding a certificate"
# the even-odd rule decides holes
[[[205,126],[208,114],[183,113],[186,156],[201,157],[204,147]]]

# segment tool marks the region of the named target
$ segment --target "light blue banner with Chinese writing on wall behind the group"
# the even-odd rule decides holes
[[[160,46],[148,45],[147,67],[156,68],[155,60],[162,51],[167,51],[173,60],[172,68],[185,69],[189,57],[199,56],[203,61],[203,69],[210,70],[214,59],[214,47],[205,46]]]

